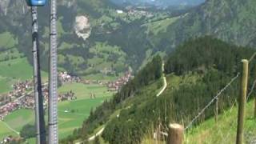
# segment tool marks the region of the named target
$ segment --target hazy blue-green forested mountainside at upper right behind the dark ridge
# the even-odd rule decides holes
[[[256,46],[254,0],[207,0],[170,24],[166,32],[150,34],[155,46],[170,50],[189,38],[214,36],[238,46]],[[162,44],[168,44],[163,46]]]

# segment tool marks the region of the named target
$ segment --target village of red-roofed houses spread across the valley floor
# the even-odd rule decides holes
[[[125,85],[130,79],[133,78],[132,71],[127,70],[120,78],[114,81],[102,81],[102,80],[86,80],[79,78],[77,76],[72,76],[66,71],[58,73],[58,81],[60,85],[65,85],[66,83],[82,83],[84,85],[97,84],[101,86],[106,86],[107,90],[110,92],[117,92],[120,88]],[[17,82],[12,86],[8,94],[2,94],[0,97],[0,120],[18,109],[34,109],[34,92],[33,92],[33,82],[26,80],[24,82]],[[43,83],[42,94],[44,97],[44,107],[46,108],[48,103],[48,83]],[[90,98],[96,98],[97,95],[90,93]],[[65,94],[58,94],[58,102],[72,101],[76,100],[76,94],[70,90]]]

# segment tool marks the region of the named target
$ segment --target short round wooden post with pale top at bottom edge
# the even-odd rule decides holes
[[[167,144],[182,144],[184,138],[184,127],[179,124],[170,124]]]

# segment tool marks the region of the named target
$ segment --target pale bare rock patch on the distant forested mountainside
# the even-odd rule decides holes
[[[90,22],[86,16],[77,16],[75,18],[75,25],[74,25],[75,33],[78,35],[79,38],[86,40],[90,37]]]

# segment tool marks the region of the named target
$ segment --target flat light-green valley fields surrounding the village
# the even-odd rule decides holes
[[[61,94],[70,90],[74,92],[78,99],[59,102],[58,104],[59,138],[65,138],[67,135],[72,134],[74,129],[82,126],[82,122],[89,116],[90,110],[100,105],[112,95],[112,93],[107,92],[105,86],[84,85],[81,83],[66,84],[60,87],[58,92]],[[95,94],[96,98],[90,98],[90,93]],[[11,126],[12,129],[19,131],[22,129],[22,126],[28,123],[34,123],[34,111],[25,109],[16,110],[14,113],[9,114],[4,119],[4,122]],[[3,122],[0,123],[0,131],[0,139],[9,134],[15,134],[9,130]],[[33,141],[33,138],[29,140],[29,142]]]

